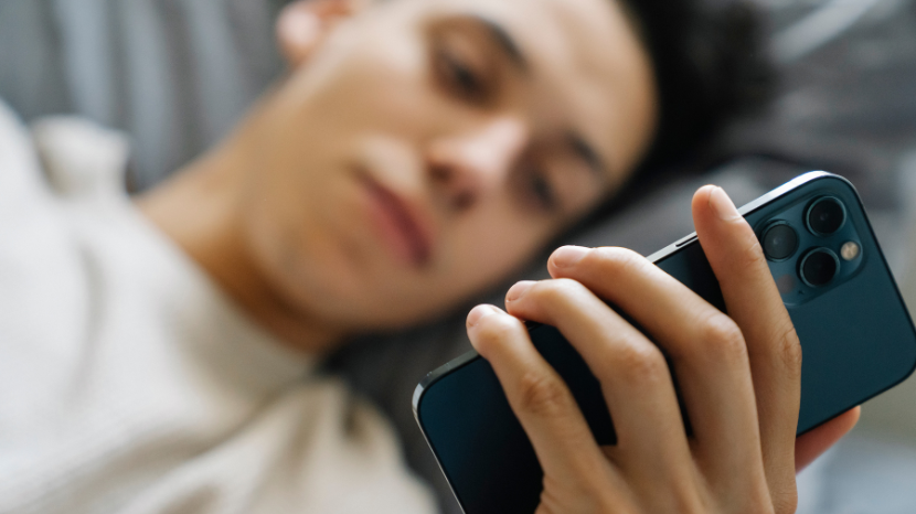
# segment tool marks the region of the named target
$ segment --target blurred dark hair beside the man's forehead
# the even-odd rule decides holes
[[[775,72],[761,17],[738,0],[611,0],[649,51],[660,117],[637,175],[696,156],[726,122],[770,99]]]

